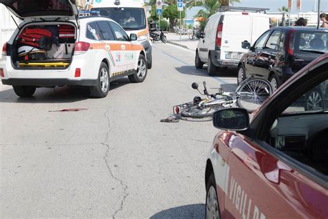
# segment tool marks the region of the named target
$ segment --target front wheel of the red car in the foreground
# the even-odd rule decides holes
[[[206,185],[205,218],[221,218],[214,173],[211,173]]]

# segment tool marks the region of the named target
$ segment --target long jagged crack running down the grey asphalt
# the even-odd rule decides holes
[[[109,144],[106,143],[109,139],[109,132],[111,130],[111,125],[109,123],[109,117],[107,116],[107,112],[104,112],[104,116],[107,119],[107,126],[108,126],[108,130],[106,132],[106,137],[104,139],[104,141],[101,143],[103,146],[106,147],[106,152],[104,154],[104,162],[107,166],[107,170],[109,172],[109,175],[111,175],[111,177],[113,179],[115,179],[116,181],[118,181],[120,183],[120,185],[122,186],[123,189],[123,195],[122,195],[122,200],[120,200],[120,207],[118,209],[116,209],[116,211],[113,213],[113,215],[111,215],[111,218],[116,218],[116,215],[118,214],[119,211],[123,210],[123,205],[125,202],[125,199],[127,198],[127,196],[129,195],[129,193],[127,193],[127,189],[129,189],[129,187],[127,186],[127,184],[125,184],[122,179],[118,179],[118,177],[116,177],[115,175],[113,175],[113,170],[111,169],[111,165],[109,164],[109,150],[111,149],[109,147]]]

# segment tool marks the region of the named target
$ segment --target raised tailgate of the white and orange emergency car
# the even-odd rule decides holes
[[[78,17],[75,0],[0,0],[19,19]]]

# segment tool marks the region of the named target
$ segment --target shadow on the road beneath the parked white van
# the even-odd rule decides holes
[[[203,76],[203,77],[212,77],[208,75],[206,67],[203,67],[203,69],[196,69],[195,67],[192,66],[181,66],[181,67],[176,67],[176,71],[179,73],[183,74],[188,74],[192,76]],[[237,70],[235,69],[218,69],[217,74],[215,77],[220,77],[220,78],[231,78],[231,77],[236,77],[237,76]]]

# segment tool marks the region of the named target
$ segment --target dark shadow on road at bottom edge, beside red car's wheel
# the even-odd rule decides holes
[[[205,204],[188,204],[172,209],[160,211],[151,219],[157,218],[204,218],[205,217]]]

